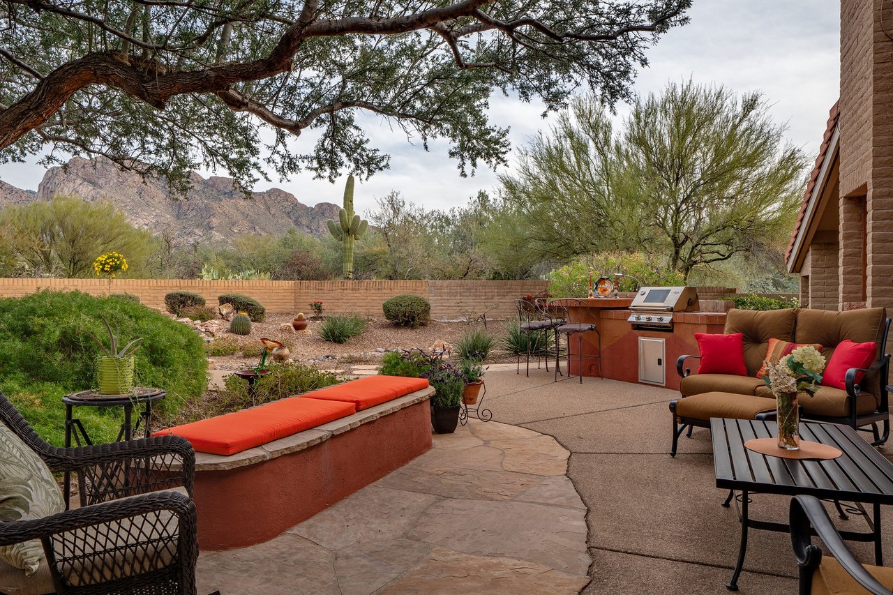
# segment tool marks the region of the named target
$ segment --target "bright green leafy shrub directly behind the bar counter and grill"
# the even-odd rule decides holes
[[[586,298],[589,276],[598,277],[624,272],[649,286],[685,285],[679,272],[667,271],[663,258],[638,252],[602,252],[577,256],[571,263],[549,273],[549,295],[556,298]],[[635,281],[620,278],[620,291],[632,291]]]

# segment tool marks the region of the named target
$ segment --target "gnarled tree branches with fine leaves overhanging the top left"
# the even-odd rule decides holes
[[[493,90],[547,110],[589,88],[628,98],[644,51],[690,0],[8,0],[0,7],[0,159],[104,156],[179,187],[244,188],[261,162],[335,180],[388,167],[357,114],[451,143],[465,174],[502,163]],[[263,129],[268,129],[264,131]],[[271,133],[269,132],[271,130]],[[315,145],[289,150],[313,130]]]

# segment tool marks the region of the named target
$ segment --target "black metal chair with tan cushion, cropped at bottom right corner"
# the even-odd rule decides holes
[[[830,557],[822,557],[822,549],[812,543],[817,535]],[[822,501],[813,496],[796,496],[790,501],[790,541],[799,567],[800,595],[828,592],[824,585],[833,582],[846,592],[893,595],[888,585],[893,582],[893,568],[864,566],[847,548],[840,533],[831,523]],[[819,578],[817,581],[816,576]],[[848,585],[847,585],[848,583]],[[835,591],[842,592],[842,591]]]

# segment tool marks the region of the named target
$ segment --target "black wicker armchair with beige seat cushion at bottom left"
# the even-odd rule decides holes
[[[0,523],[0,545],[40,540],[56,593],[195,595],[196,456],[188,440],[163,436],[57,448],[40,439],[3,392],[0,421],[51,471],[77,474],[82,505]],[[159,491],[179,486],[189,497]]]

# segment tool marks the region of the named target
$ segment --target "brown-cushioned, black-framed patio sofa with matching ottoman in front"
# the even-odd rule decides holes
[[[822,386],[812,398],[801,398],[805,419],[847,423],[854,428],[871,425],[874,444],[889,438],[887,379],[890,356],[885,352],[890,321],[884,308],[864,308],[848,312],[787,308],[757,312],[731,309],[726,314],[725,335],[740,333],[744,349],[744,367],[740,373],[692,373],[689,359],[676,362],[680,374],[682,398],[670,403],[673,417],[672,454],[686,428],[709,427],[710,416],[755,417],[757,411],[774,409],[772,391],[756,373],[764,365],[770,339],[822,347],[822,355],[831,361],[835,350],[845,341],[875,343],[876,356],[871,365],[846,370],[839,387]],[[847,343],[847,348],[851,347]],[[707,394],[709,393],[709,396]],[[695,397],[684,402],[686,398]],[[760,400],[763,399],[763,400]],[[878,423],[883,426],[879,432]]]

